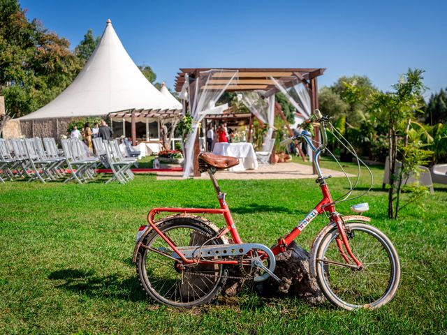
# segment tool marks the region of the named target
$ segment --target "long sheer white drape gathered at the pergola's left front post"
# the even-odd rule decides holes
[[[189,78],[186,78],[186,81],[188,80]],[[203,71],[186,85],[189,114],[193,123],[185,142],[184,178],[193,173],[194,142],[199,124],[207,114],[222,114],[228,108],[228,105],[216,106],[216,103],[230,84],[237,84],[237,70]]]

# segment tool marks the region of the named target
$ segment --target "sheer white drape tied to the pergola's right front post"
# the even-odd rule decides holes
[[[283,80],[276,80],[274,77],[270,77],[274,86],[279,89],[279,91],[286,96],[287,100],[296,108],[298,112],[302,114],[305,119],[309,119],[312,114],[312,107],[310,102],[309,91],[305,87],[305,84],[299,82],[291,87],[286,87],[286,82]],[[307,156],[309,161],[312,162],[312,150],[307,145]]]

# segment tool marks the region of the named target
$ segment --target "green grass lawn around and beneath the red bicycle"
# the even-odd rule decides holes
[[[447,188],[435,187],[393,221],[386,217],[383,171],[373,172],[374,188],[358,202],[369,202],[372,224],[395,244],[402,282],[390,304],[354,312],[248,291],[191,311],[154,304],[131,262],[135,232],[152,207],[216,207],[210,181],[137,175],[126,186],[101,179],[82,186],[0,184],[0,334],[445,334]],[[344,179],[328,184],[332,195],[346,191]],[[221,187],[242,238],[268,246],[321,198],[314,179],[231,180]],[[337,209],[348,213],[351,204]],[[298,244],[309,248],[324,224],[317,218]]]

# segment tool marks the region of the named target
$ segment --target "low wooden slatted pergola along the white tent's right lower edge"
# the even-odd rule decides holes
[[[119,112],[109,113],[110,119],[122,119],[123,121],[131,120],[131,133],[132,133],[132,145],[137,144],[136,135],[136,122],[137,119],[149,121],[159,120],[159,119],[178,119],[182,115],[182,110],[145,110],[143,108],[135,109],[131,108],[129,110],[120,110]],[[147,128],[147,122],[146,122]],[[146,130],[147,132],[147,130]]]

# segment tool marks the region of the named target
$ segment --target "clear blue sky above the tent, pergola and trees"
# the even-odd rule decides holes
[[[318,85],[367,75],[383,90],[411,67],[447,87],[447,1],[22,0],[27,17],[78,45],[110,18],[136,64],[173,87],[178,68],[327,68]],[[430,92],[426,96],[430,95]]]

